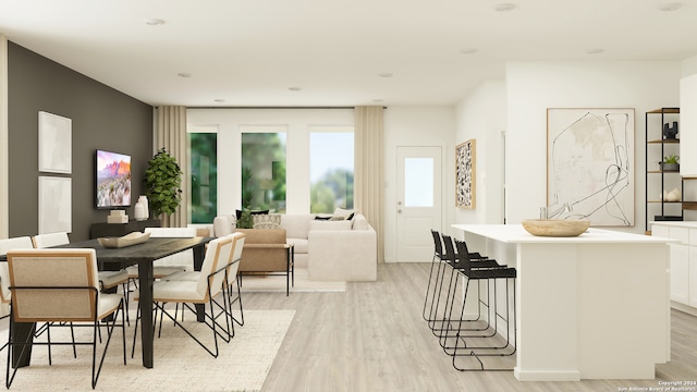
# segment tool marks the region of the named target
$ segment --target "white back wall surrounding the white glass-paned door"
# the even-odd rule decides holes
[[[440,146],[443,228],[455,209],[455,113],[453,107],[389,107],[384,111],[384,260],[396,260],[396,147]],[[428,230],[431,228],[425,228]],[[426,232],[427,233],[427,232]],[[428,260],[424,260],[428,261]]]

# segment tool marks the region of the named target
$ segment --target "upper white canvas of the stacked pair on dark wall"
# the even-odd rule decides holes
[[[39,171],[72,172],[72,124],[71,119],[39,112]]]

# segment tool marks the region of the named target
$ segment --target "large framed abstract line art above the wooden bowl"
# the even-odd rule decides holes
[[[634,126],[633,108],[547,109],[550,218],[634,226]]]

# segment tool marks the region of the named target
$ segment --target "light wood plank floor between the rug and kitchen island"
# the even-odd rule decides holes
[[[296,310],[262,391],[620,391],[697,381],[697,318],[677,310],[672,360],[657,366],[656,380],[519,382],[512,372],[456,371],[421,319],[429,268],[380,265],[377,282],[350,283],[346,293],[245,293],[246,309]]]

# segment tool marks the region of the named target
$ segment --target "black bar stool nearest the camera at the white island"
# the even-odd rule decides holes
[[[461,255],[467,255],[467,245],[458,240],[455,240],[455,246],[457,247],[457,252]],[[516,323],[516,308],[515,308],[515,281],[517,277],[517,272],[515,268],[505,267],[505,268],[489,268],[489,269],[476,269],[472,261],[465,256],[461,257],[461,268],[457,269],[457,275],[462,275],[463,279],[466,279],[464,286],[464,298],[463,306],[460,315],[460,320],[457,322],[456,334],[455,334],[455,345],[452,347],[452,352],[445,351],[447,354],[453,357],[453,367],[460,371],[510,371],[512,368],[503,368],[503,367],[490,367],[485,368],[484,362],[481,357],[506,357],[515,354],[515,344],[512,342],[511,336],[511,327],[513,327],[513,336],[515,336],[515,323]],[[494,293],[496,293],[496,282],[498,279],[505,279],[505,316],[499,314],[497,297],[494,295],[493,299],[493,317],[496,320],[501,319],[505,322],[505,340],[501,345],[472,345],[468,344],[467,339],[481,339],[484,341],[493,341],[494,336],[481,336],[477,334],[467,334],[465,333],[467,330],[464,328],[468,321],[464,318],[465,314],[465,302],[467,299],[467,290],[469,287],[470,281],[481,281],[493,280],[494,284]],[[511,298],[509,291],[509,280],[513,280],[513,298]],[[455,286],[453,290],[456,290],[457,286],[457,278],[455,279]],[[489,290],[487,287],[487,290]],[[513,320],[511,324],[511,301],[513,301]],[[489,311],[487,311],[489,313]],[[449,320],[450,322],[450,320]],[[494,321],[496,322],[496,321]],[[498,327],[494,327],[498,328]],[[496,332],[496,330],[494,330]],[[443,344],[441,344],[443,345]],[[478,368],[465,368],[457,366],[457,357],[470,357],[477,360],[479,364]]]

